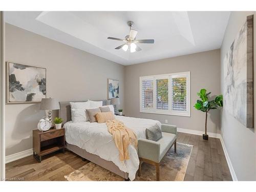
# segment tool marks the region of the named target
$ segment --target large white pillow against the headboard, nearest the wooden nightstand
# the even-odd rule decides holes
[[[71,119],[74,123],[88,121],[84,110],[90,108],[90,102],[70,102]]]

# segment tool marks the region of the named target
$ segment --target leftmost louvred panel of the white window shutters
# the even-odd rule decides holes
[[[152,109],[154,106],[154,80],[142,80],[142,108]]]

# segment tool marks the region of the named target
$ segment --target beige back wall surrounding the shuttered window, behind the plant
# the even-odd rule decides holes
[[[190,110],[191,117],[140,113],[139,77],[165,73],[190,71]],[[204,131],[205,113],[193,108],[197,101],[197,92],[205,88],[212,95],[220,94],[220,50],[212,50],[185,56],[145,62],[126,66],[124,73],[125,110],[124,114],[132,117],[156,119],[179,128]],[[219,133],[220,110],[212,110],[208,116],[208,131]]]

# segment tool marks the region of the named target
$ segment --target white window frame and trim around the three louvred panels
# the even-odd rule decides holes
[[[186,77],[186,111],[174,111],[172,110],[172,80],[176,77]],[[168,110],[156,109],[156,79],[166,79],[168,78]],[[153,109],[142,108],[142,81],[145,79],[154,79],[154,89],[153,89]],[[140,113],[151,113],[151,114],[161,114],[161,115],[175,115],[175,116],[185,116],[190,117],[190,71],[180,72],[180,73],[168,73],[160,75],[148,75],[140,77]]]

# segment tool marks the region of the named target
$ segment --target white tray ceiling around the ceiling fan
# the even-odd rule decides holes
[[[6,12],[6,22],[122,65],[186,55],[221,47],[230,12],[50,11]],[[115,47],[129,34],[126,22],[134,22],[136,39],[155,39],[139,44],[130,53]]]

